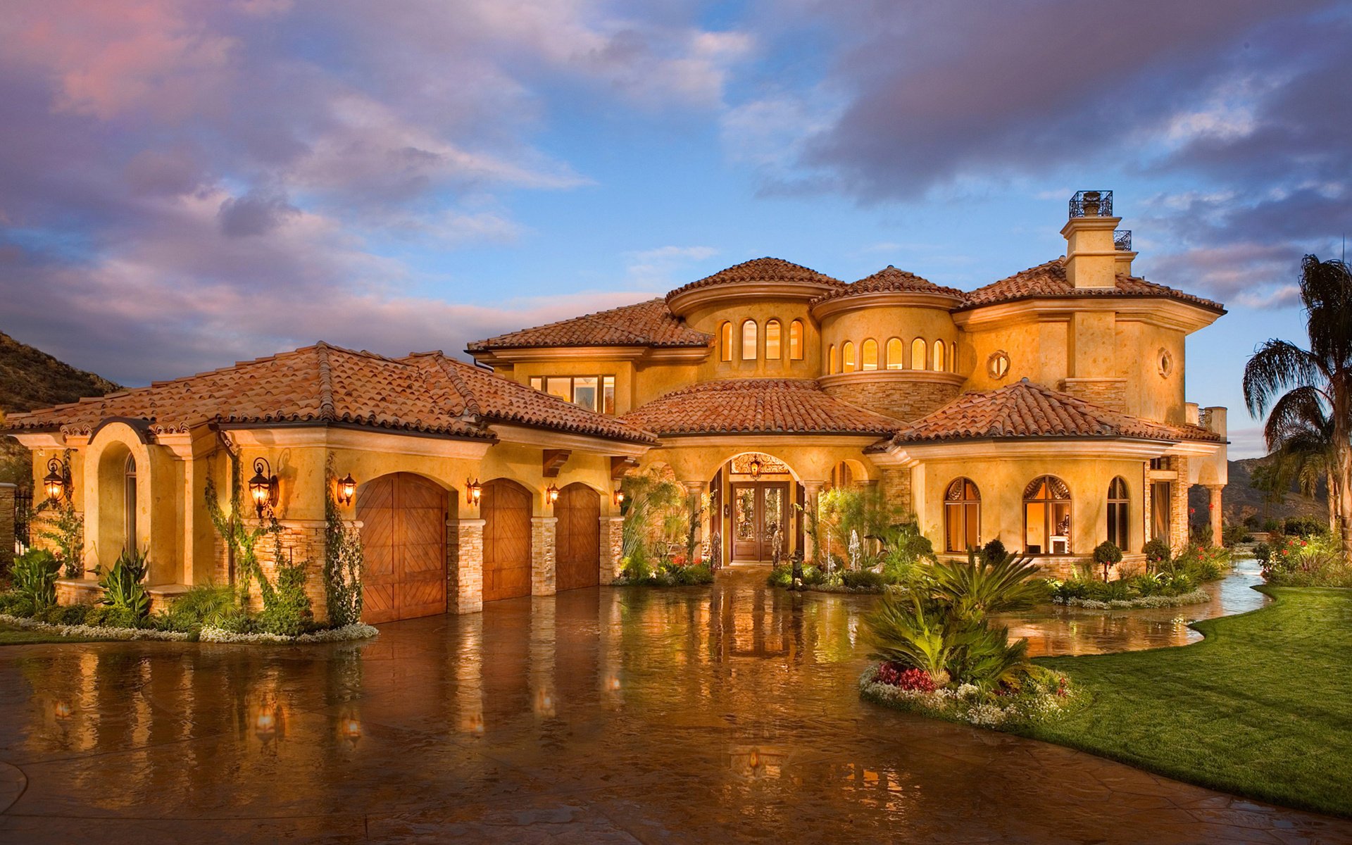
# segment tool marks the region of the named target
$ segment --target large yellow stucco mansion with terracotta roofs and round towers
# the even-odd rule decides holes
[[[150,549],[164,596],[231,575],[206,508],[231,456],[269,481],[297,560],[323,560],[326,502],[350,480],[368,622],[608,583],[621,480],[654,465],[730,564],[810,557],[802,508],[833,485],[876,489],[941,554],[998,538],[1060,572],[1113,541],[1138,561],[1152,538],[1187,541],[1194,484],[1218,541],[1225,408],[1187,402],[1184,352],[1225,310],[1133,274],[1119,223],[1111,192],[1080,192],[1064,257],[975,291],[757,258],[476,341],[473,365],[316,343],[15,414],[7,433],[38,489],[59,465],[87,568]]]

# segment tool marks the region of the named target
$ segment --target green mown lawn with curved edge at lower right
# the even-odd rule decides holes
[[[1352,815],[1352,589],[1197,623],[1172,649],[1052,657],[1091,700],[1028,735],[1178,780]]]

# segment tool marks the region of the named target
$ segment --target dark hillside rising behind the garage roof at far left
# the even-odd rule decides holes
[[[76,369],[0,333],[0,418],[120,389],[101,376]],[[0,481],[27,485],[31,477],[28,450],[16,439],[0,435]]]

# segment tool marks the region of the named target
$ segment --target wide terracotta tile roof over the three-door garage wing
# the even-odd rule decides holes
[[[437,360],[445,366],[435,365]],[[464,370],[468,377],[457,379]],[[548,400],[548,402],[546,402]],[[488,422],[652,442],[614,418],[450,361],[441,353],[404,360],[315,343],[173,381],[14,414],[11,430],[89,434],[105,419],[145,420],[154,433],[215,423],[347,423],[491,439]]]

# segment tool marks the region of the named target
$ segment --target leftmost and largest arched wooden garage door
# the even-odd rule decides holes
[[[362,621],[446,612],[446,491],[407,472],[381,476],[357,491],[357,519]]]

